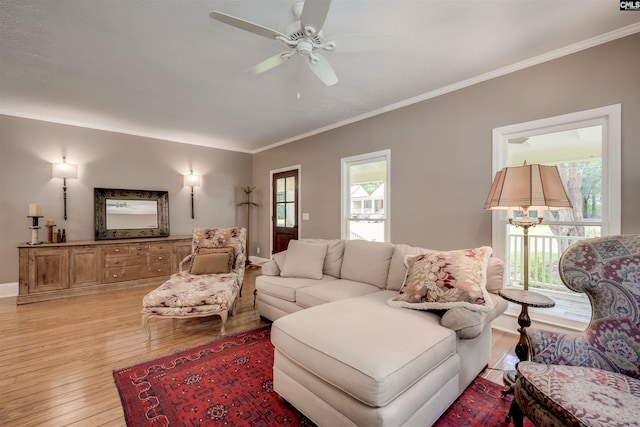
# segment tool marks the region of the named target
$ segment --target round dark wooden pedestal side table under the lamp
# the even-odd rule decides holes
[[[556,303],[545,295],[529,290],[525,291],[524,289],[502,289],[499,292],[499,295],[507,301],[514,302],[522,306],[520,315],[518,315],[518,325],[520,325],[518,332],[520,332],[520,339],[518,340],[518,344],[516,344],[516,355],[520,361],[528,360],[529,343],[527,342],[526,331],[527,328],[531,326],[529,307],[551,308],[556,305]],[[516,364],[516,368],[517,366],[518,365]],[[513,383],[516,382],[516,371],[505,371],[503,381],[505,385],[509,387],[509,390],[506,391],[506,393],[509,393],[513,387]]]

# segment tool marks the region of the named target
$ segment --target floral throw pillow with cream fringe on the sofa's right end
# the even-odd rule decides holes
[[[415,310],[446,310],[466,307],[491,311],[487,293],[487,265],[492,249],[487,246],[405,257],[407,276],[389,305]]]

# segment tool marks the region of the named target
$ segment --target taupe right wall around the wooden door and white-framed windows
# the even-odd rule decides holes
[[[622,104],[622,231],[640,233],[640,34],[254,155],[270,247],[270,171],[301,166],[301,237],[340,237],[340,159],[391,149],[391,240],[438,249],[491,244],[483,210],[492,129]],[[437,66],[437,64],[434,64]],[[341,83],[344,84],[344,83]]]

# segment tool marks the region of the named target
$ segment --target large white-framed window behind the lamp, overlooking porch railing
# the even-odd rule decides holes
[[[558,260],[571,243],[620,232],[620,105],[494,129],[493,144],[496,172],[524,161],[557,166],[573,208],[545,212],[529,230],[529,287],[556,301],[555,316],[588,322],[586,295],[562,284]],[[504,211],[493,213],[493,247],[505,285],[522,286],[522,229]]]

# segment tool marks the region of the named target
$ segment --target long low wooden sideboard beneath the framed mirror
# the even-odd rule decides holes
[[[161,284],[191,253],[191,236],[18,246],[18,304]]]

